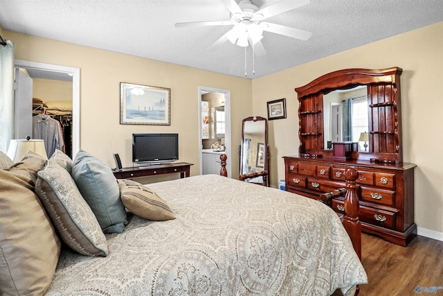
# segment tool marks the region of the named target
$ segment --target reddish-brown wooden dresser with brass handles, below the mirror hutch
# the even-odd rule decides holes
[[[318,199],[345,187],[345,169],[359,171],[360,213],[363,232],[406,246],[415,237],[414,164],[374,165],[357,162],[328,162],[321,159],[284,157],[286,190]],[[344,214],[343,198],[334,198],[332,208]]]

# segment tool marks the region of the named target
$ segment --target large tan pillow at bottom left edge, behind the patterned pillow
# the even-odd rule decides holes
[[[0,295],[43,295],[53,279],[60,240],[34,192],[44,162],[28,153],[0,170]]]

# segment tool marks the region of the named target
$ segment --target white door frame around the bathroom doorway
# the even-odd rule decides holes
[[[203,161],[202,161],[202,141],[203,141],[203,134],[201,132],[202,130],[202,122],[203,119],[201,118],[201,96],[204,94],[208,94],[210,92],[216,92],[217,94],[223,94],[224,95],[224,116],[225,116],[225,134],[224,134],[224,145],[226,147],[226,156],[228,159],[226,160],[226,172],[228,173],[228,177],[231,177],[231,171],[232,171],[232,147],[231,147],[231,141],[230,141],[230,90],[228,89],[217,89],[214,87],[201,87],[199,86],[199,163],[200,163],[200,175],[203,173]]]

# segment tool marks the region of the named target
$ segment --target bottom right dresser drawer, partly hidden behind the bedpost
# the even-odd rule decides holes
[[[345,214],[345,202],[334,198],[332,200],[332,209],[338,213]],[[379,225],[387,228],[395,227],[395,213],[392,211],[383,211],[381,209],[361,206],[359,219],[372,225]]]

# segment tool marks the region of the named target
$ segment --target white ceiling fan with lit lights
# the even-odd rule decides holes
[[[275,34],[285,35],[288,37],[308,40],[312,33],[291,28],[279,24],[273,24],[266,21],[269,17],[279,15],[280,13],[293,10],[309,3],[309,0],[280,0],[271,6],[259,8],[255,6],[251,0],[220,0],[224,6],[230,11],[230,19],[226,21],[192,21],[187,23],[177,23],[176,28],[197,27],[197,26],[233,26],[226,34],[216,40],[208,50],[216,49],[226,41],[230,41],[238,46],[251,45],[255,55],[262,56],[266,54],[264,46],[261,42],[263,31]]]

